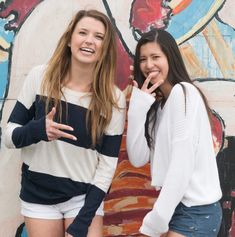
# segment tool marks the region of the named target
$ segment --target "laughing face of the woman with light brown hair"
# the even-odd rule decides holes
[[[94,65],[100,58],[105,36],[104,24],[92,17],[83,17],[71,36],[72,62]]]

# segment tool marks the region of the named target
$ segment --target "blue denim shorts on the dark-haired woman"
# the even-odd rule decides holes
[[[192,207],[180,203],[171,218],[169,230],[186,237],[216,237],[221,220],[219,202]]]

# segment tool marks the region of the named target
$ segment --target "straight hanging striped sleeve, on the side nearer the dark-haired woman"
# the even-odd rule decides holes
[[[116,170],[126,115],[126,100],[121,91],[118,98],[120,109],[113,110],[111,122],[98,151],[99,163],[87,192],[85,204],[67,229],[67,232],[74,237],[87,236],[88,227],[111,185]]]

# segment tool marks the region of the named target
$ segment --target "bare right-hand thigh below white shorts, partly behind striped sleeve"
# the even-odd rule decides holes
[[[73,222],[74,218],[65,219],[65,230]],[[103,237],[103,216],[94,216],[91,225],[88,229],[87,237]]]

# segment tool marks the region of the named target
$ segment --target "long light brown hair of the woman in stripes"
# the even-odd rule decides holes
[[[42,94],[47,96],[46,113],[49,111],[49,104],[53,102],[61,115],[62,87],[71,65],[71,50],[68,45],[77,23],[84,17],[92,17],[102,22],[105,26],[103,46],[100,59],[97,61],[93,73],[91,102],[87,111],[87,128],[90,123],[92,145],[95,146],[112,118],[112,108],[118,108],[114,93],[117,60],[115,32],[105,14],[97,10],[81,10],[77,12],[61,36],[54,54],[49,60],[41,91]]]

